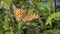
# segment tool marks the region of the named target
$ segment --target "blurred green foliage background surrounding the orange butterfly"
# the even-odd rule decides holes
[[[40,18],[17,22],[12,3]],[[60,0],[0,0],[0,34],[60,34]]]

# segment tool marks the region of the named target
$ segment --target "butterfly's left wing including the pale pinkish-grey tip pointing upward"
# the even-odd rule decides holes
[[[12,9],[15,14],[16,20],[21,21],[23,19],[23,17],[25,16],[26,11],[23,9],[16,8],[16,6],[14,4],[12,4]]]

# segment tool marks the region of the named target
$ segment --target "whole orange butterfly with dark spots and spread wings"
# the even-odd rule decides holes
[[[39,16],[36,13],[27,12],[24,9],[16,8],[15,5],[13,5],[13,12],[15,14],[17,21],[32,21],[33,19],[39,18]]]

